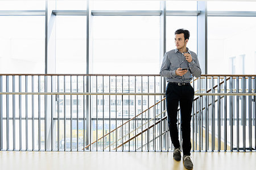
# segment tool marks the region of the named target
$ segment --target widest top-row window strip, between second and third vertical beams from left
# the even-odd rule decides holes
[[[160,1],[93,1],[93,10],[160,10]]]

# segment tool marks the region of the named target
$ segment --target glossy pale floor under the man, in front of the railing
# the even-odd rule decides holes
[[[255,152],[192,152],[193,169],[255,169]],[[172,152],[0,152],[0,169],[185,169]]]

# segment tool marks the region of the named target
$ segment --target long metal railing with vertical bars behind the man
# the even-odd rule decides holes
[[[255,151],[255,75],[191,85],[192,151]],[[165,87],[159,75],[0,74],[0,149],[170,151]]]

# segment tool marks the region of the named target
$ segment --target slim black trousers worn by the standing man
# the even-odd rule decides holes
[[[191,85],[179,86],[169,82],[166,88],[168,126],[175,148],[180,147],[177,131],[177,108],[180,103],[183,155],[190,155],[191,151],[191,111],[194,94]]]

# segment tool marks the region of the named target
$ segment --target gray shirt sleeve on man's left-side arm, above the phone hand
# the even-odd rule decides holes
[[[168,77],[168,78],[175,78],[177,75],[175,71],[170,71],[170,60],[168,59],[167,53],[164,54],[164,59],[162,63],[162,67],[160,69],[160,76]]]

